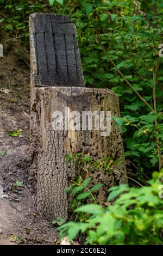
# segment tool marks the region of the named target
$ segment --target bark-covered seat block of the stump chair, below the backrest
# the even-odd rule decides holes
[[[119,116],[118,96],[106,89],[75,87],[35,88],[32,103],[32,141],[37,154],[37,210],[48,218],[67,217],[67,197],[64,193],[70,179],[79,174],[73,164],[67,164],[66,154],[89,152],[95,160],[123,156],[122,134],[119,126],[111,124],[111,135],[102,137],[101,131],[54,131],[53,112],[69,111],[111,111]],[[123,160],[116,170],[126,174]],[[94,172],[92,182],[103,182],[114,186],[127,182],[121,174]],[[104,195],[99,195],[103,197]]]

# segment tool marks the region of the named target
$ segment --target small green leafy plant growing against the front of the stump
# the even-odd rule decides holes
[[[113,172],[117,172],[114,167],[120,164],[122,159],[113,161],[110,157],[105,157],[99,161],[95,161],[89,155],[85,155],[83,157],[82,153],[66,155],[66,159],[68,163],[71,162],[71,164],[80,168],[77,178],[75,180],[71,180],[71,185],[65,190],[65,193],[68,193],[70,196],[71,211],[73,212],[80,205],[86,203],[102,203],[98,201],[96,195],[98,190],[105,190],[105,186],[102,183],[92,185],[91,172],[98,172],[100,170],[101,172],[108,173],[108,175]],[[87,220],[88,215],[86,213],[79,212],[78,214],[73,214],[72,217],[76,221],[84,221]]]

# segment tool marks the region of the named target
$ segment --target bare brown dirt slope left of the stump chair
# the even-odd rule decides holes
[[[37,215],[29,182],[30,68],[16,42],[1,35],[0,57],[0,245],[57,240],[51,222]],[[29,53],[27,53],[29,58]],[[9,136],[8,131],[19,133]]]

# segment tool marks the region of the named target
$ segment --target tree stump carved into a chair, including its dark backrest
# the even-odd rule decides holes
[[[123,157],[120,165],[115,167],[116,173],[90,175],[94,181],[104,182],[108,187],[127,182],[120,126],[111,121],[110,133],[105,136],[102,126],[87,129],[87,125],[91,126],[90,119],[83,118],[86,112],[88,115],[109,112],[111,116],[119,117],[118,96],[108,89],[84,87],[76,29],[67,17],[30,16],[30,51],[31,142],[37,176],[37,211],[51,220],[67,218],[68,200],[64,191],[79,171],[67,163],[66,154],[89,153],[95,160]],[[87,120],[85,126],[73,117],[72,114],[77,112],[78,120]],[[56,120],[60,113],[62,123],[57,130]],[[72,121],[74,129],[70,129]],[[100,119],[96,121],[100,123]]]

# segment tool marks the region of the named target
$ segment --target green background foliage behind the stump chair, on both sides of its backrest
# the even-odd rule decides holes
[[[58,3],[57,3],[58,2]],[[156,79],[157,124],[147,106],[118,74],[97,43],[97,34],[117,68],[153,107],[153,72],[162,43],[162,1],[12,1],[1,0],[8,13],[3,26],[29,42],[28,17],[35,12],[68,15],[76,24],[87,87],[109,88],[120,96],[126,157],[143,172],[158,169],[158,145],[162,154],[162,58]],[[21,40],[21,39],[20,39]],[[145,117],[148,117],[148,120]],[[151,119],[152,118],[152,119]],[[134,121],[133,121],[134,120]],[[159,143],[158,143],[159,140]],[[145,149],[145,151],[143,151]],[[140,157],[141,156],[141,157]]]

